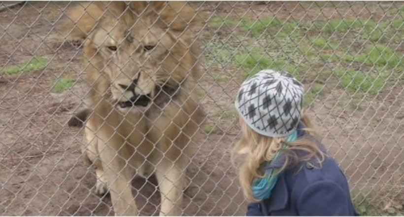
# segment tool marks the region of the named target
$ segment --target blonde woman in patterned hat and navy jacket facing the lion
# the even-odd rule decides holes
[[[303,85],[264,70],[244,81],[235,102],[245,154],[240,184],[247,216],[358,216],[336,161],[303,116]]]

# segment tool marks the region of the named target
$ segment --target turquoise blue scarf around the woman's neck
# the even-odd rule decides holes
[[[287,138],[287,142],[294,142],[298,138],[298,131],[295,131],[292,135]],[[286,146],[284,146],[286,147]],[[272,161],[265,162],[263,164],[264,170],[266,172],[265,177],[256,179],[252,184],[252,193],[255,199],[265,200],[270,197],[271,191],[278,181],[281,174],[274,174],[274,168],[271,166],[271,162],[275,162],[282,155],[282,152],[278,152]]]

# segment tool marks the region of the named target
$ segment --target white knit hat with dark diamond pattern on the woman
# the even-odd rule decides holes
[[[263,70],[238,90],[236,109],[255,132],[287,137],[302,117],[303,85],[287,72]]]

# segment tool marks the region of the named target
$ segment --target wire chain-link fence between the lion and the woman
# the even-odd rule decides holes
[[[403,2],[0,6],[1,215],[244,215],[233,102],[261,69],[303,82],[358,211],[403,215]]]

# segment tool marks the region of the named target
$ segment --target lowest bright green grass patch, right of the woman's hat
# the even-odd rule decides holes
[[[384,79],[371,74],[366,75],[353,69],[337,69],[333,74],[338,78],[341,88],[344,88],[350,94],[376,95],[382,92],[385,85]]]

